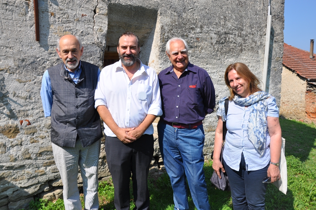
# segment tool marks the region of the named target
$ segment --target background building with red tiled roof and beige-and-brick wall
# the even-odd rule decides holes
[[[316,54],[284,43],[280,115],[316,121]]]

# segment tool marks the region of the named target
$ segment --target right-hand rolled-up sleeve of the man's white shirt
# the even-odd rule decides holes
[[[153,114],[156,116],[162,115],[162,109],[161,109],[161,97],[160,97],[160,88],[159,88],[159,82],[158,82],[158,76],[155,73],[153,81],[153,94],[151,103],[149,104],[147,114]]]

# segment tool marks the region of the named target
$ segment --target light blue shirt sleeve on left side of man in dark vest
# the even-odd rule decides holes
[[[44,116],[50,117],[51,112],[52,112],[52,105],[53,105],[53,94],[52,94],[51,78],[49,77],[47,70],[43,74],[42,86],[40,89],[40,97],[43,103]]]

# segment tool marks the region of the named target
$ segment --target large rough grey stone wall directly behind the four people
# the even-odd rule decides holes
[[[268,88],[279,104],[284,0],[271,0],[271,13],[268,73],[273,80]],[[229,64],[243,62],[263,77],[267,14],[268,0],[0,0],[0,210],[23,207],[41,193],[60,196],[62,182],[40,86],[44,71],[61,62],[56,43],[62,35],[80,36],[82,60],[102,68],[117,59],[113,51],[118,36],[133,31],[141,40],[140,59],[157,73],[170,66],[167,40],[182,37],[189,45],[190,62],[210,74],[218,102],[228,95],[223,75]],[[213,149],[216,124],[215,113],[206,116],[206,158]],[[110,176],[104,145],[101,151],[100,180]],[[78,175],[79,187],[81,182]]]

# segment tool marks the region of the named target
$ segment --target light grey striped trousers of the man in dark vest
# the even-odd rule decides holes
[[[87,210],[99,209],[98,163],[101,140],[82,147],[80,139],[75,147],[60,147],[52,143],[53,155],[64,184],[64,204],[66,210],[82,210],[77,187],[78,165],[80,167],[84,204]]]

